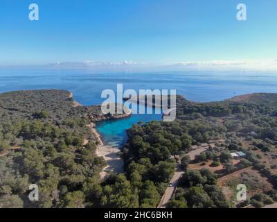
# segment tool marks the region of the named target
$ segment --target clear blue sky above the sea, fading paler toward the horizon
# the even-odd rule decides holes
[[[39,21],[28,19],[30,3]],[[236,18],[238,3],[247,21]],[[276,8],[276,0],[1,0],[0,65],[277,67]]]

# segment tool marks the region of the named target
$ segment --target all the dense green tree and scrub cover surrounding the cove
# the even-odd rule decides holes
[[[177,96],[177,119],[136,124],[123,148],[125,173],[100,180],[105,160],[95,154],[91,121],[109,119],[99,107],[73,107],[69,92],[39,90],[0,95],[0,207],[157,207],[175,173],[185,171],[167,207],[230,207],[217,187],[218,176],[254,166],[273,182],[277,144],[277,95],[256,94],[214,103],[193,103]],[[89,141],[84,143],[84,139]],[[186,155],[193,146],[222,139],[196,157],[224,171],[192,171]],[[251,143],[252,149],[243,142]],[[238,165],[230,153],[247,155]],[[276,155],[277,157],[277,155]],[[28,200],[28,186],[39,185],[39,201]],[[271,196],[276,193],[270,194]],[[253,205],[269,203],[257,195]]]

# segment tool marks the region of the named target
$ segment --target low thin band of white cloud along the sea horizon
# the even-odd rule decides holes
[[[124,60],[121,62],[103,62],[84,60],[83,62],[54,62],[48,64],[50,68],[60,69],[93,69],[93,70],[185,70],[185,69],[251,69],[277,71],[277,60],[211,60],[211,61],[183,61],[166,63],[145,63]]]

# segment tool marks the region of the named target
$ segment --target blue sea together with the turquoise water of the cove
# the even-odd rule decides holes
[[[104,89],[177,89],[191,101],[221,101],[253,92],[277,92],[277,73],[253,71],[178,71],[159,73],[96,73],[89,69],[0,69],[0,92],[23,89],[66,89],[83,105],[98,105]],[[126,129],[139,121],[161,119],[161,114],[132,115],[97,124],[105,143],[121,146]]]

